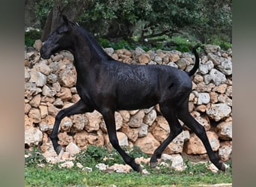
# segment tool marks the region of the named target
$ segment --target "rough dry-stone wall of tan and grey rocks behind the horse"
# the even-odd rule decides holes
[[[40,40],[25,51],[25,148],[37,145],[44,156],[56,156],[49,135],[55,116],[79,100],[76,92],[76,70],[73,55],[61,52],[49,60],[40,58]],[[189,52],[148,51],[140,48],[105,49],[118,61],[129,64],[166,64],[189,71],[194,55]],[[200,55],[201,64],[192,76],[193,91],[189,111],[207,131],[211,147],[223,161],[232,153],[232,53],[219,46],[207,45]],[[115,112],[116,128],[121,146],[137,145],[147,154],[165,139],[171,129],[159,106],[135,111]],[[97,111],[65,117],[58,133],[59,143],[70,153],[85,149],[88,144],[109,146],[103,117]],[[183,132],[168,145],[164,153],[206,153],[200,139],[184,125]]]

